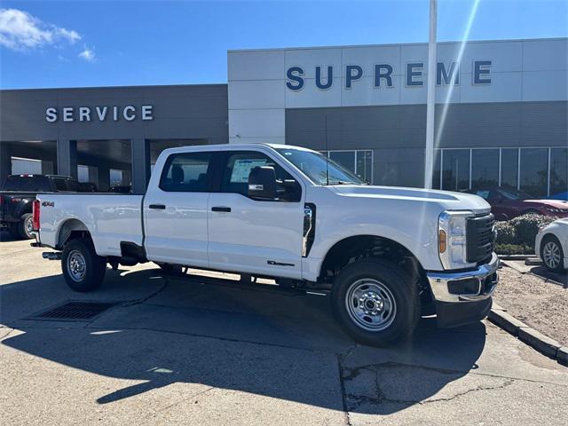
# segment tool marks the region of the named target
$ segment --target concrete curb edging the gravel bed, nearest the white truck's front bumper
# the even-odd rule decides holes
[[[560,364],[568,367],[568,347],[556,340],[543,335],[533,327],[527,326],[523,321],[513,317],[499,305],[493,306],[487,318],[497,327],[501,327],[509,334],[518,337],[521,342],[528,344],[543,355],[556,359]]]

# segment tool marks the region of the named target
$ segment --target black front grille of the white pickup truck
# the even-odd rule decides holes
[[[466,229],[466,255],[468,262],[482,262],[491,257],[495,245],[493,214],[469,217]]]

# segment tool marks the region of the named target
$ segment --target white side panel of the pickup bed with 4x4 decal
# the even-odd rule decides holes
[[[120,193],[42,193],[41,243],[58,246],[59,233],[69,221],[79,221],[91,233],[99,256],[121,256],[121,242],[142,246],[142,195]]]

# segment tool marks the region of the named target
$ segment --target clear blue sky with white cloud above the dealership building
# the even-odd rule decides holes
[[[438,0],[438,41],[475,0]],[[480,0],[471,40],[568,36],[565,0]],[[2,1],[0,87],[225,83],[230,49],[428,40],[428,0]]]

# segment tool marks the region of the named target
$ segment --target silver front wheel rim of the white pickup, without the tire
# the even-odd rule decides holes
[[[397,315],[397,304],[390,289],[372,279],[351,284],[345,294],[345,307],[351,320],[368,331],[390,327]]]

